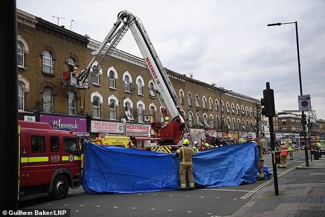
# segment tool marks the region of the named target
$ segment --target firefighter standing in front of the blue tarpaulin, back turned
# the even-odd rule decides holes
[[[186,190],[186,173],[190,184],[190,190],[194,189],[193,181],[193,167],[192,167],[192,156],[194,155],[193,149],[189,147],[190,141],[185,139],[183,146],[180,147],[175,155],[180,161],[179,167],[179,179],[180,179],[180,190]]]

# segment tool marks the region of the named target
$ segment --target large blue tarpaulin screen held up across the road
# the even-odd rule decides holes
[[[193,156],[196,187],[253,183],[258,173],[256,143],[208,149]],[[135,193],[180,188],[179,160],[160,153],[114,146],[84,145],[83,187],[88,193]]]

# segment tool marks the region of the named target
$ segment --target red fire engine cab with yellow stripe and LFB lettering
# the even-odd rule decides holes
[[[67,196],[82,183],[80,153],[73,132],[47,123],[19,121],[19,200]]]

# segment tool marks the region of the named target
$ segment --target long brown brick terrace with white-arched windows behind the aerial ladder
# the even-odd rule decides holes
[[[115,50],[88,78],[89,89],[65,88],[62,73],[86,68],[100,43],[19,9],[17,34],[19,119],[138,137],[150,135],[150,122],[164,120],[142,58]],[[190,128],[233,137],[255,132],[258,100],[166,70]]]

